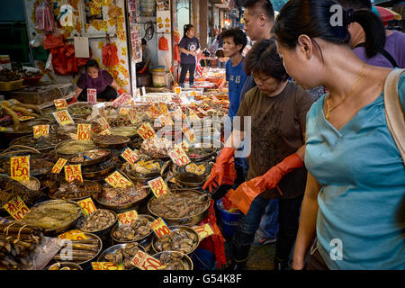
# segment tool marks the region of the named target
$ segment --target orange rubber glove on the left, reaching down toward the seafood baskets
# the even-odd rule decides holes
[[[233,160],[233,155],[235,154],[235,148],[222,148],[220,151],[220,156],[217,157],[215,164],[211,168],[211,174],[208,180],[202,186],[205,190],[209,187],[212,193],[212,186],[215,188],[221,184],[234,184],[236,179],[235,162]],[[224,180],[225,177],[225,180]],[[214,183],[216,182],[216,184]]]

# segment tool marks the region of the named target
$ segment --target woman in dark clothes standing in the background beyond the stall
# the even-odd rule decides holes
[[[196,56],[200,49],[200,42],[194,36],[194,27],[192,24],[184,25],[184,36],[180,40],[180,65],[182,71],[180,73],[179,85],[184,86],[185,76],[189,72],[189,84],[194,84],[194,72],[197,64]]]

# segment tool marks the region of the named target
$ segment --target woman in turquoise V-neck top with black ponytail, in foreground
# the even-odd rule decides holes
[[[392,71],[366,65],[349,46],[347,26],[365,31],[368,55],[383,48],[384,27],[370,11],[342,11],[336,2],[291,0],[274,27],[278,53],[297,84],[325,85],[329,94],[307,116],[302,202],[293,268],[405,269],[405,169],[384,113],[383,86]],[[405,76],[398,87],[405,107]]]

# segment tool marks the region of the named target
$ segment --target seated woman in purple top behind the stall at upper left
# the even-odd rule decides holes
[[[111,101],[125,93],[125,90],[117,84],[112,75],[100,69],[97,61],[88,60],[85,63],[85,73],[77,80],[76,94],[70,103],[87,101],[87,89],[97,90],[98,101]]]

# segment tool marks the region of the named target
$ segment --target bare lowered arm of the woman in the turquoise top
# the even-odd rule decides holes
[[[293,255],[293,269],[301,270],[304,267],[305,255],[315,238],[318,214],[318,194],[321,185],[308,173],[307,185],[302,201],[300,226],[295,242]]]

